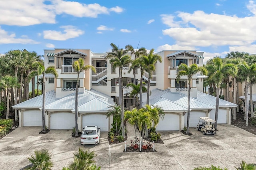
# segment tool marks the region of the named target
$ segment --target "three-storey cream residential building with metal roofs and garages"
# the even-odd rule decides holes
[[[46,125],[50,129],[70,129],[74,127],[74,93],[79,86],[78,128],[84,125],[98,125],[102,131],[108,131],[112,118],[106,119],[108,106],[117,102],[119,97],[118,69],[109,63],[106,53],[94,53],[90,49],[54,49],[44,50],[45,67],[55,66],[58,78],[46,76]],[[143,74],[145,86],[150,83],[150,104],[161,106],[166,112],[160,121],[158,130],[181,130],[186,126],[188,80],[182,76],[176,81],[176,73],[181,63],[203,65],[204,52],[164,50],[158,52],[162,63],[156,63],[156,70],[148,82],[148,72]],[[95,66],[96,72],[86,70],[79,74],[72,68],[72,63],[82,57],[85,64]],[[134,56],[131,56],[134,59]],[[123,67],[124,107],[132,109],[134,98],[130,97],[132,88],[126,86],[133,82],[133,73],[129,66]],[[136,69],[136,83],[140,83],[140,70]],[[191,126],[196,125],[200,116],[214,117],[216,98],[202,93],[205,75],[195,74],[191,82]],[[145,105],[146,95],[140,99]],[[210,101],[207,101],[210,100]],[[237,105],[220,100],[220,123],[230,123],[230,109]],[[20,111],[20,126],[42,125],[42,97],[38,96],[22,102],[14,108]],[[218,120],[219,120],[218,119]],[[36,122],[36,123],[35,123]]]

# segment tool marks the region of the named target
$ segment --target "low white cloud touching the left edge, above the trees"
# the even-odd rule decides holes
[[[21,38],[16,38],[15,33],[9,34],[0,27],[0,44],[39,44],[39,42],[29,39],[26,35],[22,35]]]

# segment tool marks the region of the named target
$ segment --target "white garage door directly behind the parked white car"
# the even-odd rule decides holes
[[[98,126],[101,132],[108,132],[108,119],[106,115],[90,114],[82,117],[82,125],[85,126]]]

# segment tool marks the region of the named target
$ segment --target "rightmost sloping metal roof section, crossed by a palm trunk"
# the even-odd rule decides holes
[[[197,91],[196,99],[200,100],[202,102],[206,102],[212,106],[216,106],[216,97],[215,96],[211,96],[209,94]],[[238,105],[228,102],[226,100],[223,100],[223,99],[219,100],[219,107],[236,107],[236,106],[238,106]]]

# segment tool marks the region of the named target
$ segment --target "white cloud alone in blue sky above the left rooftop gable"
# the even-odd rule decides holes
[[[44,39],[65,41],[67,39],[79,37],[80,35],[84,34],[84,31],[81,29],[76,29],[72,25],[61,26],[60,28],[64,29],[64,33],[54,30],[43,31]]]

